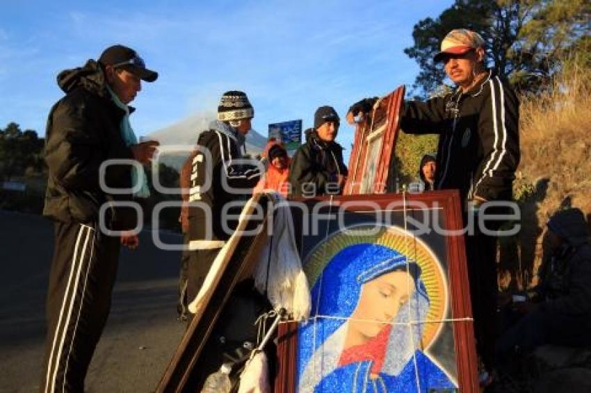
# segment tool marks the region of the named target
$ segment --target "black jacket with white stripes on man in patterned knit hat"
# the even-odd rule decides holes
[[[188,196],[191,249],[222,246],[236,227],[243,202],[261,177],[257,160],[243,158],[243,138],[218,122],[217,128],[204,131],[197,140]],[[228,219],[225,206],[232,204],[227,213],[234,217]]]

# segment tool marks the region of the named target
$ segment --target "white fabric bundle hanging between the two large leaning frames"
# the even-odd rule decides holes
[[[259,256],[254,271],[254,286],[267,297],[275,310],[285,308],[296,321],[310,315],[311,299],[302,261],[295,246],[293,219],[289,203],[277,192],[268,192],[273,199],[273,233]],[[270,266],[269,266],[270,262]]]

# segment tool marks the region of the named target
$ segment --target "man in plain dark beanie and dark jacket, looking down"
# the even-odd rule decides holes
[[[314,128],[306,133],[306,143],[293,155],[289,169],[291,196],[341,194],[347,180],[343,148],[334,142],[340,119],[332,106],[314,113]]]

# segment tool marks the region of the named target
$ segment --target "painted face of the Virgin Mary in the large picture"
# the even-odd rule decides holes
[[[414,280],[407,271],[390,271],[364,283],[351,314],[348,335],[357,336],[357,344],[375,337],[398,315],[413,292]]]

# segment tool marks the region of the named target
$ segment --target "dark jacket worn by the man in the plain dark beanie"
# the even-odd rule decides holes
[[[291,159],[291,196],[302,196],[308,190],[312,193],[314,187],[315,195],[325,195],[329,191],[327,186],[337,182],[337,175],[348,175],[343,162],[343,148],[337,142],[323,142],[315,130],[307,131],[306,137],[306,143]]]

